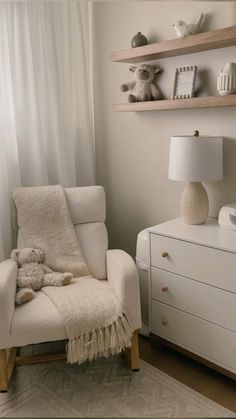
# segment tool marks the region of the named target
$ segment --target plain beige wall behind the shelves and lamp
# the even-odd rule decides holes
[[[113,113],[112,103],[127,101],[121,83],[132,80],[129,64],[112,63],[110,52],[130,47],[142,31],[153,42],[175,37],[176,19],[207,14],[204,29],[236,24],[232,2],[117,1],[94,4],[95,132],[97,183],[107,194],[110,245],[135,254],[137,233],[178,216],[183,183],[167,178],[169,137],[191,134],[224,136],[225,178],[207,184],[210,215],[236,202],[236,108]],[[235,13],[234,13],[235,16]],[[198,65],[203,95],[216,94],[223,64],[236,62],[236,47],[159,60],[160,87],[170,97],[177,66]]]

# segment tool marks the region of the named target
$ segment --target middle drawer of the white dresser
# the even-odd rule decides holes
[[[236,332],[236,294],[158,268],[151,287],[155,300]]]

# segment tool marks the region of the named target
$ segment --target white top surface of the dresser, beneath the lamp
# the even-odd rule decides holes
[[[236,231],[220,227],[218,221],[213,218],[201,225],[185,224],[180,218],[175,218],[150,227],[148,231],[236,253]]]

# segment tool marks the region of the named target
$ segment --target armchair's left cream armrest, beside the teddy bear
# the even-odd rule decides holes
[[[12,316],[15,310],[17,263],[0,263],[0,349],[8,347]]]

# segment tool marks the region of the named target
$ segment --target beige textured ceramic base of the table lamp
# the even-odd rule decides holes
[[[186,224],[204,224],[208,217],[209,200],[201,182],[189,182],[180,202],[180,214]]]

